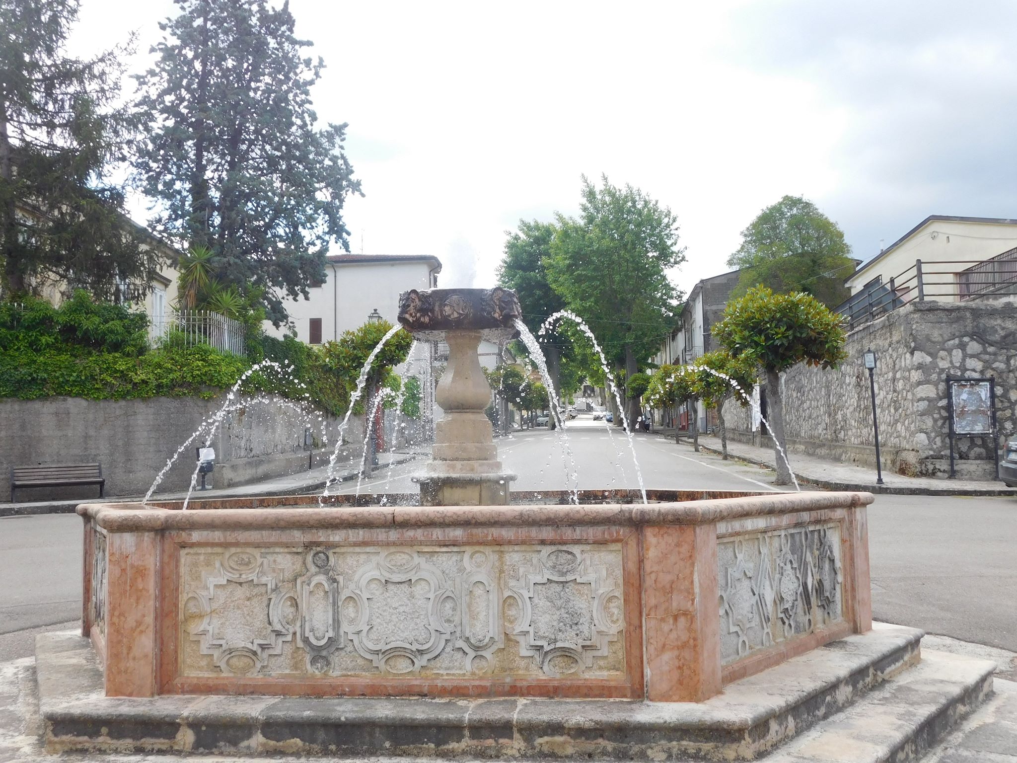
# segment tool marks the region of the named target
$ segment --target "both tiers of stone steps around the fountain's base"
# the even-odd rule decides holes
[[[701,703],[130,699],[104,696],[96,654],[74,633],[38,637],[36,659],[52,752],[803,763],[838,751],[838,760],[899,761],[934,745],[992,687],[994,663],[935,652],[922,658],[920,638],[913,629],[877,627],[734,682]],[[855,749],[859,757],[843,757]]]

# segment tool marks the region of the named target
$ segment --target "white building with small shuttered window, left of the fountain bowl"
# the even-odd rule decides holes
[[[374,310],[395,325],[399,295],[433,289],[441,272],[441,261],[431,254],[336,254],[326,259],[324,283],[312,286],[308,299],[284,302],[297,339],[308,344],[338,340],[343,332],[366,324]],[[264,330],[277,337],[289,333],[267,321]]]

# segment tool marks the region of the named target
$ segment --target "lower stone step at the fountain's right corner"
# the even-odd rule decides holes
[[[917,760],[992,693],[996,663],[923,650],[921,662],[768,755],[765,763]]]

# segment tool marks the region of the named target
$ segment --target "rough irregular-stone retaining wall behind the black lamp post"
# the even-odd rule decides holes
[[[878,355],[876,405],[884,469],[949,474],[948,376],[994,378],[1001,450],[1014,436],[1017,302],[912,302],[851,332],[846,349],[848,359],[840,368],[798,365],[783,374],[790,450],[875,467],[869,372],[861,361],[868,349]],[[728,401],[724,416],[729,435],[747,442],[750,411]],[[991,437],[958,437],[954,457],[959,478],[995,478]]]

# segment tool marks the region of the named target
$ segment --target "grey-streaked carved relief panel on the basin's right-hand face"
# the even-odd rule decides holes
[[[837,523],[722,538],[717,563],[724,664],[844,619]]]

